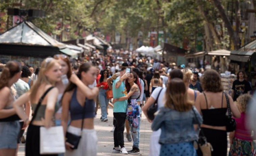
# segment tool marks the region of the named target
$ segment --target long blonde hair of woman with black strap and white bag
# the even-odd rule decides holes
[[[38,89],[39,89],[39,87],[42,83],[51,84],[49,82],[47,76],[45,75],[45,71],[52,68],[55,63],[59,63],[59,62],[58,62],[58,60],[56,60],[54,58],[46,58],[42,62],[41,68],[40,68],[40,71],[39,71],[39,74],[38,74],[38,77],[37,77],[37,81],[30,89],[30,101],[31,101],[31,103],[36,102],[37,91],[38,91]]]

